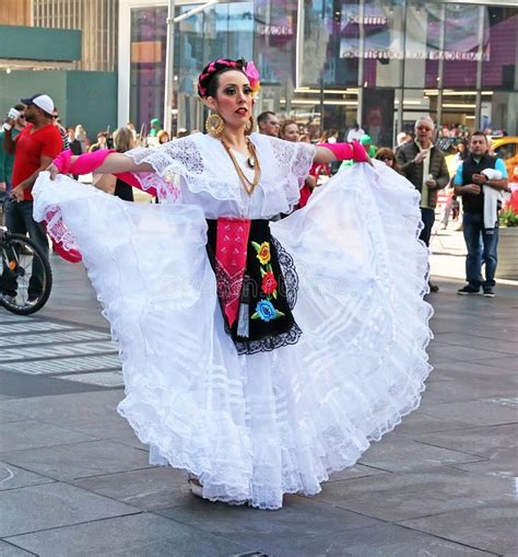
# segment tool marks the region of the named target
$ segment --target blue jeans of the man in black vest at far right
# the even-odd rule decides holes
[[[488,232],[484,229],[483,214],[464,212],[462,219],[466,247],[466,280],[474,288],[495,286],[498,247],[498,228]],[[485,264],[485,280],[482,279],[482,263]]]

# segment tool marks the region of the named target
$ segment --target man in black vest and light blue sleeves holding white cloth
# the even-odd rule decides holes
[[[482,287],[493,298],[498,248],[498,210],[502,193],[507,190],[507,170],[502,159],[488,153],[482,131],[471,136],[469,156],[457,167],[455,194],[462,196],[462,230],[466,247],[466,280],[458,294],[476,294]],[[482,246],[482,248],[481,248]],[[482,264],[485,279],[482,279]]]

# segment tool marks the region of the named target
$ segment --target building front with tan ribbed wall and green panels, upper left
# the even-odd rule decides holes
[[[0,111],[49,94],[93,140],[117,124],[118,0],[1,0]]]

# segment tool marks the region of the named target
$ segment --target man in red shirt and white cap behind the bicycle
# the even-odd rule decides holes
[[[5,225],[17,234],[27,234],[48,257],[48,240],[45,228],[33,218],[31,192],[40,171],[47,169],[62,150],[61,136],[54,125],[54,101],[48,95],[33,95],[22,98],[26,106],[27,126],[12,138],[11,131],[3,136],[3,149],[14,154],[11,198],[5,202]],[[12,124],[12,123],[10,123]],[[15,291],[3,295],[15,295]],[[43,271],[35,265],[28,285],[28,301],[35,300],[43,291]]]

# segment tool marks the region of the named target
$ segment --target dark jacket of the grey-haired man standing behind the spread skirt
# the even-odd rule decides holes
[[[400,167],[401,174],[403,174],[409,182],[411,182],[415,188],[421,192],[423,187],[423,163],[415,164],[413,160],[419,153],[419,147],[415,141],[404,143],[398,149],[396,160]],[[429,174],[434,176],[437,182],[437,187],[428,187],[428,207],[435,209],[437,205],[437,192],[445,188],[449,182],[448,166],[446,165],[445,155],[434,147],[432,149],[431,161],[429,161]]]

